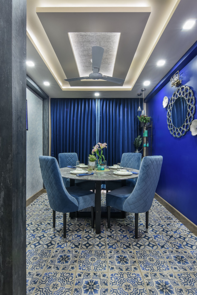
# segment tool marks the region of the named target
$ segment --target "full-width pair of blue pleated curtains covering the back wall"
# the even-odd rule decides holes
[[[51,99],[51,156],[75,152],[79,161],[97,142],[107,143],[107,165],[134,152],[138,136],[138,99]]]

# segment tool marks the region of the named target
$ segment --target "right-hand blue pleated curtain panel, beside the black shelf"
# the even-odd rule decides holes
[[[103,99],[98,104],[98,139],[107,143],[107,149],[104,149],[107,165],[117,164],[123,153],[135,151],[133,142],[138,136],[138,99]]]

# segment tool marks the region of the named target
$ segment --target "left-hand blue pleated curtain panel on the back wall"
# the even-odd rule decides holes
[[[96,144],[96,101],[93,99],[51,99],[51,156],[77,153],[79,161]]]

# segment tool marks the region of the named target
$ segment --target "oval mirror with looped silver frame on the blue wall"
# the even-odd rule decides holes
[[[167,124],[174,137],[181,137],[190,128],[195,112],[195,97],[189,86],[176,89],[170,99],[167,111]]]

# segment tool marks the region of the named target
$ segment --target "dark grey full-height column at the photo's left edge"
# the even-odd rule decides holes
[[[0,1],[0,294],[26,294],[26,0]]]

